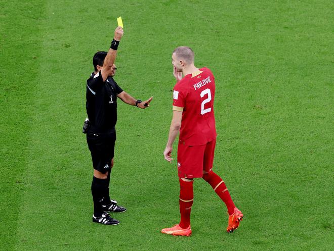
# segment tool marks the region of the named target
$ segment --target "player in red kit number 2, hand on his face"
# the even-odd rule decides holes
[[[217,136],[214,115],[215,77],[210,69],[194,66],[194,52],[186,46],[174,50],[172,64],[177,83],[173,92],[173,119],[163,155],[165,160],[172,162],[173,143],[180,132],[177,162],[181,220],[179,224],[164,228],[161,232],[191,235],[193,179],[203,178],[226,204],[229,214],[227,232],[230,233],[239,226],[243,215],[234,206],[224,181],[212,170]]]

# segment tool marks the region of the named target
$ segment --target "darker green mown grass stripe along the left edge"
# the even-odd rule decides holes
[[[5,2],[5,1],[2,1]],[[44,1],[6,1],[0,10],[1,250],[14,250],[31,147]]]

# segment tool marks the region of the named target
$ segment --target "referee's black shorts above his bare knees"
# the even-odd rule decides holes
[[[94,133],[88,131],[87,143],[91,151],[93,168],[106,173],[111,169],[111,159],[114,158],[116,132]]]

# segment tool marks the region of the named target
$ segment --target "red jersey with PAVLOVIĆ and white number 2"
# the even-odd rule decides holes
[[[215,77],[208,68],[184,76],[174,86],[173,110],[182,111],[179,141],[203,145],[217,136],[214,115]]]

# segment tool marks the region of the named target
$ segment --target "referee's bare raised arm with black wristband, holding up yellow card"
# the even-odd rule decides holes
[[[112,39],[111,41],[110,49],[108,51],[108,54],[104,60],[104,63],[101,69],[101,75],[102,75],[103,81],[106,81],[108,74],[111,71],[112,65],[115,62],[116,55],[117,55],[117,47],[118,47],[120,39],[123,36],[123,33],[124,31],[122,27],[118,26],[115,29],[114,39]]]

